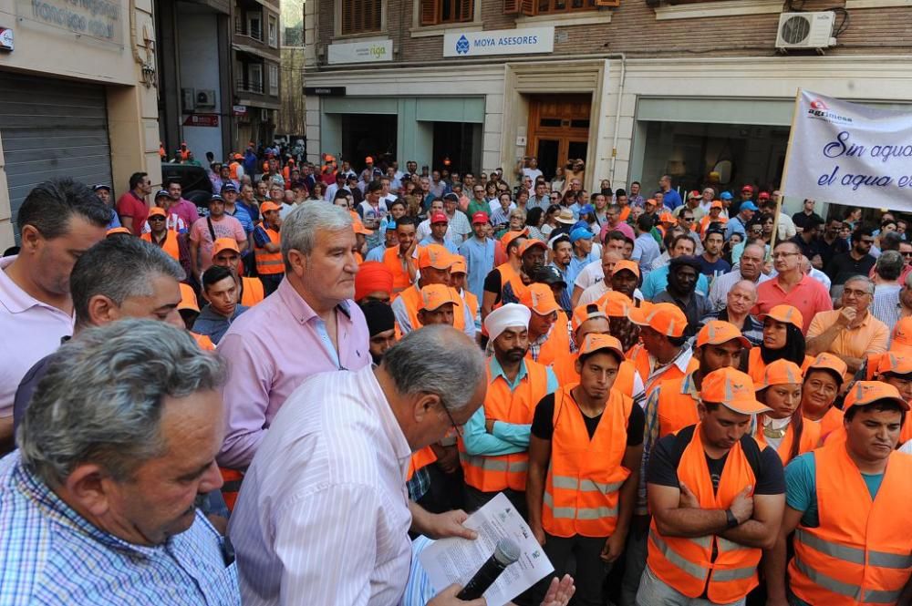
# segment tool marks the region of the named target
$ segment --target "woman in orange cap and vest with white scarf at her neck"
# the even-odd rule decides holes
[[[820,445],[820,426],[804,423],[801,412],[801,368],[788,360],[776,360],[766,367],[757,385],[757,400],[771,410],[757,416],[754,437],[761,446],[775,449],[788,465],[794,457]]]

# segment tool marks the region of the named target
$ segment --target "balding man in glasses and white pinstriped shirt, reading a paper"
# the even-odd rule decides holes
[[[405,471],[412,452],[469,420],[485,390],[481,351],[442,325],[407,334],[376,368],[325,373],[295,390],[229,526],[244,604],[398,604],[409,526],[473,539],[465,512],[410,505]]]

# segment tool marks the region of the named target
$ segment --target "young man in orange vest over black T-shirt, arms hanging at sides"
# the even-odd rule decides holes
[[[580,604],[606,603],[606,563],[624,550],[637,500],[644,416],[629,396],[612,389],[623,362],[615,337],[589,334],[576,361],[579,384],[545,396],[532,422],[529,525],[556,577],[575,559]],[[535,586],[535,603],[550,581]]]

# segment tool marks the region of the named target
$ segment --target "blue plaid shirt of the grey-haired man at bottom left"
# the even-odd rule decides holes
[[[239,605],[237,566],[202,513],[156,547],[98,529],[22,466],[0,460],[0,604]]]

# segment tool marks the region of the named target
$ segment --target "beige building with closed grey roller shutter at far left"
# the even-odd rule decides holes
[[[39,182],[161,180],[151,0],[0,0],[0,248]]]

